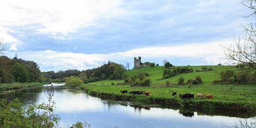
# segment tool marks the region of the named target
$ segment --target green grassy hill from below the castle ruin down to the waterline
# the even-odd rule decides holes
[[[203,66],[191,66],[195,71],[196,68],[201,70]],[[205,66],[204,66],[205,67]],[[120,80],[106,80],[82,85],[82,89],[89,94],[101,98],[108,98],[123,101],[139,101],[147,103],[158,103],[167,106],[180,106],[187,108],[201,109],[224,109],[224,110],[243,110],[256,111],[256,86],[254,85],[213,85],[213,81],[219,78],[220,71],[227,70],[225,66],[207,66],[212,67],[212,71],[201,71],[187,74],[180,74],[169,78],[172,86],[165,85],[166,79],[161,79],[163,75],[163,66],[158,67],[143,67],[127,71],[127,75],[137,74],[138,71],[146,71],[152,79],[149,87],[131,87],[130,85],[111,85],[111,82],[124,83]],[[188,79],[195,79],[196,76],[201,76],[203,83],[192,85],[178,85],[178,78],[183,77],[185,83]],[[161,79],[161,80],[157,80]],[[121,90],[129,91],[151,91],[150,96],[122,94]],[[173,92],[178,95],[172,96]],[[194,93],[194,100],[179,98],[179,94]],[[196,94],[213,94],[214,99],[197,99]]]

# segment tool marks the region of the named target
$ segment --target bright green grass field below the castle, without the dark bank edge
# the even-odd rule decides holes
[[[195,71],[196,68],[201,70],[202,66],[191,66]],[[219,78],[219,72],[222,70],[227,70],[223,66],[207,66],[212,67],[212,71],[202,71],[187,74],[180,74],[169,78],[171,86],[167,87],[165,81],[167,79],[161,79],[163,75],[163,66],[158,67],[143,67],[140,69],[133,69],[127,71],[127,75],[137,74],[138,71],[146,71],[149,73],[149,77],[152,79],[152,83],[149,87],[131,87],[130,85],[111,85],[111,82],[124,83],[123,79],[120,80],[105,80],[100,82],[93,82],[88,85],[82,85],[86,90],[99,93],[111,93],[116,95],[131,95],[122,94],[121,90],[129,91],[151,91],[150,96],[137,95],[136,99],[138,101],[148,100],[148,99],[175,99],[177,101],[183,101],[179,98],[179,94],[184,93],[194,93],[195,99],[191,102],[221,102],[229,105],[230,103],[239,103],[239,105],[245,105],[256,108],[256,86],[255,85],[213,85],[213,81]],[[192,85],[188,88],[188,85],[178,85],[178,78],[183,77],[185,83],[188,79],[195,79],[196,76],[201,76],[203,83],[199,85]],[[161,80],[157,80],[161,79]],[[173,92],[177,92],[177,96],[172,96]],[[214,99],[197,99],[196,94],[213,94]]]

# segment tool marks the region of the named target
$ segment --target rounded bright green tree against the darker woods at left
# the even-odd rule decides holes
[[[12,66],[12,74],[16,82],[28,82],[28,70],[24,68],[23,64],[15,63]]]

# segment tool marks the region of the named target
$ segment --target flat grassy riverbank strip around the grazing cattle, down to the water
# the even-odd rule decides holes
[[[194,85],[190,89],[187,86],[174,87],[130,87],[130,85],[82,85],[80,86],[87,94],[102,99],[116,101],[136,101],[156,104],[165,108],[186,108],[200,111],[237,111],[237,113],[254,116],[256,113],[255,86],[236,85],[232,91],[232,85]],[[150,96],[122,94],[121,90],[129,91],[151,91]],[[172,96],[172,92],[178,95]],[[179,94],[204,93],[213,94],[214,99],[187,100],[179,98]],[[245,115],[241,115],[245,116]]]

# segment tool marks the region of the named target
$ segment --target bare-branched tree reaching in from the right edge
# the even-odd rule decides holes
[[[244,18],[256,16],[256,1],[246,0],[242,1],[242,4],[248,7],[252,14],[247,15]],[[238,68],[239,73],[249,72],[253,74],[253,79],[256,79],[256,26],[255,23],[250,23],[248,26],[242,26],[245,31],[245,37],[243,41],[239,37],[238,41],[235,39],[235,43],[230,47],[223,47],[228,63],[233,65],[245,65],[243,68]]]

